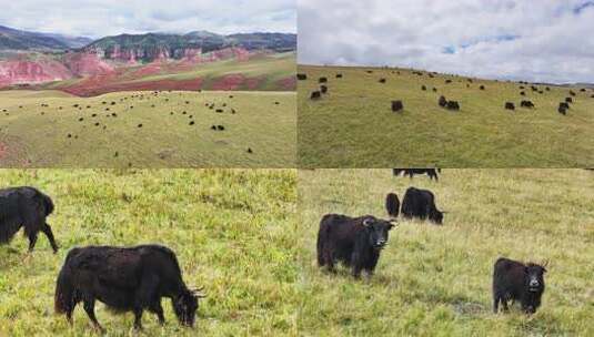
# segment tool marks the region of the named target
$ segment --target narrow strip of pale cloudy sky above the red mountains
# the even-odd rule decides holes
[[[296,32],[295,0],[2,0],[0,7],[0,25],[89,38],[195,30]]]

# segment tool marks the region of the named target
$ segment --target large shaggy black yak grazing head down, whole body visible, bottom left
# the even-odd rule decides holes
[[[93,326],[103,330],[94,316],[94,303],[100,300],[115,312],[133,312],[134,328],[141,329],[144,309],[165,323],[162,297],[171,298],[182,325],[194,325],[203,295],[185,286],[178,258],[168,247],[77,247],[68,253],[58,275],[54,309],[72,324],[72,312],[82,302]]]

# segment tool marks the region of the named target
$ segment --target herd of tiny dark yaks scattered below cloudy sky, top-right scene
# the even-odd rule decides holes
[[[368,70],[366,71],[368,74],[372,74],[373,71],[372,70]],[[400,75],[400,71],[392,71],[392,73],[394,74],[399,74]],[[413,71],[412,74],[415,74],[415,75],[419,75],[419,76],[423,76],[424,73],[421,72],[421,71]],[[429,75],[429,78],[433,79],[437,73],[436,72],[427,72],[426,73]],[[308,80],[308,74],[305,73],[299,73],[298,74],[298,80],[299,81],[305,81]],[[336,79],[343,79],[343,74],[342,73],[336,73],[335,75]],[[460,80],[462,81],[462,80]],[[466,83],[466,88],[470,89],[471,88],[471,84],[474,83],[474,81],[472,79],[466,79],[466,81],[469,83]],[[328,78],[326,76],[321,76],[318,79],[318,82],[320,83],[320,89],[319,90],[314,90],[310,93],[310,100],[320,100],[322,99],[323,94],[328,93],[329,91],[329,86],[328,86]],[[382,83],[382,84],[385,84],[387,82],[387,80],[385,78],[380,78],[380,80],[377,81],[379,83]],[[323,83],[323,84],[322,84]],[[444,82],[446,85],[447,84],[451,84],[452,83],[452,80],[447,79],[445,80]],[[528,84],[527,82],[520,82],[520,84]],[[521,90],[520,91],[520,95],[522,96],[525,96],[526,95],[526,86],[524,85],[520,85],[519,89]],[[486,86],[485,85],[479,85],[479,90],[481,91],[486,91]],[[536,85],[531,85],[531,90],[535,93],[538,93],[538,94],[544,94],[545,91],[551,91],[551,88],[550,86],[545,86],[545,89],[541,89]],[[594,89],[592,89],[594,91]],[[421,85],[421,91],[427,91],[427,85],[423,84]],[[432,91],[433,92],[437,92],[437,88],[433,86],[432,88]],[[581,89],[580,92],[583,92],[585,93],[586,90],[585,89]],[[573,90],[570,90],[568,91],[570,95],[571,96],[567,96],[565,99],[565,101],[563,102],[560,102],[558,103],[558,109],[557,109],[557,112],[560,114],[563,114],[563,115],[566,115],[567,114],[567,111],[570,110],[570,104],[573,103],[573,96],[576,96],[577,93],[575,93]],[[592,99],[594,99],[594,93],[591,95]],[[404,103],[402,100],[393,100],[392,102],[392,112],[402,112],[404,110]],[[447,100],[444,95],[441,95],[437,100],[437,105],[443,108],[443,109],[446,109],[446,110],[450,110],[450,111],[459,111],[461,108],[460,108],[460,103],[459,101],[453,101],[453,100]],[[534,105],[534,103],[530,100],[522,100],[520,102],[520,106],[521,108],[525,108],[525,109],[535,109],[536,106]],[[505,110],[512,110],[514,111],[515,110],[515,103],[514,102],[505,102],[503,104],[503,108]]]

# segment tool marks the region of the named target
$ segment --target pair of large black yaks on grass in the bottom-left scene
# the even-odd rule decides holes
[[[33,187],[0,190],[0,244],[7,244],[24,228],[29,251],[37,236],[48,237],[53,253],[58,245],[47,217],[53,212],[51,198]],[[132,312],[134,328],[141,329],[144,310],[157,315],[164,324],[161,299],[171,299],[180,324],[193,326],[201,289],[190,289],[182,279],[175,253],[165,246],[134,247],[85,246],[72,248],[57,277],[54,310],[72,324],[72,313],[79,303],[93,326],[104,330],[94,315],[94,304],[102,302],[114,312]]]

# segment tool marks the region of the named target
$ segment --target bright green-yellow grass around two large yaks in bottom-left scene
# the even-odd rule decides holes
[[[204,286],[194,329],[181,327],[169,299],[168,324],[143,316],[140,336],[294,335],[299,267],[294,258],[295,171],[0,171],[3,186],[34,185],[53,197],[46,237],[27,253],[18,234],[0,246],[0,336],[83,336],[93,331],[81,306],[74,326],[53,313],[53,290],[68,251],[91,244],[160,243],[178,255],[190,286]],[[265,249],[263,248],[265,247]],[[133,334],[133,315],[97,305],[109,336]]]

